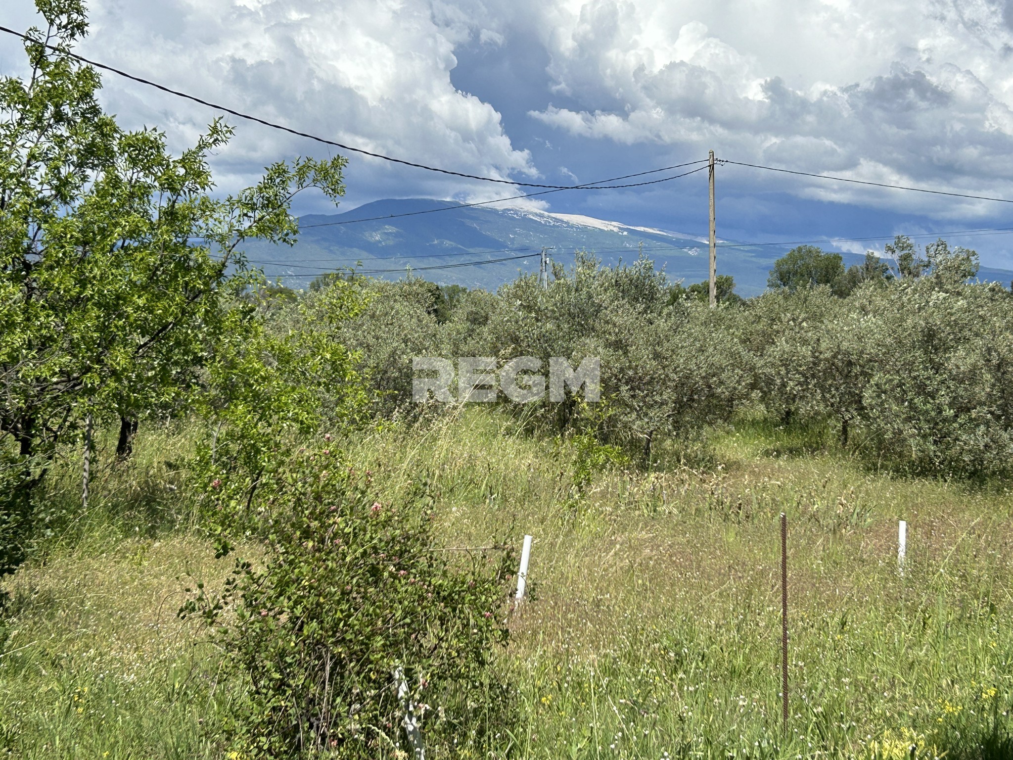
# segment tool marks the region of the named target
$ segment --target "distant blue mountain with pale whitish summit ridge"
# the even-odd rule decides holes
[[[361,261],[360,271],[376,277],[397,279],[410,267],[440,284],[495,290],[519,272],[538,272],[543,247],[549,248],[553,261],[566,265],[577,249],[595,253],[607,264],[633,261],[642,250],[673,281],[707,279],[705,238],[569,214],[405,199],[376,201],[343,214],[304,216],[299,227],[299,242],[293,247],[258,240],[245,246],[251,263],[292,287],[305,287],[323,272]],[[739,295],[755,296],[766,287],[774,260],[789,247],[722,240],[717,271],[734,277]],[[862,258],[842,256],[846,265]],[[474,261],[489,263],[470,265]],[[1008,284],[1013,272],[982,268],[980,277]]]

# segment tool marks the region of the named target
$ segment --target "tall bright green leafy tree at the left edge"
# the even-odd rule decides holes
[[[0,456],[14,481],[0,496],[0,574],[23,557],[29,495],[57,446],[88,414],[133,419],[185,392],[256,279],[242,242],[291,244],[296,193],[343,193],[343,159],[300,159],[215,197],[208,156],[232,131],[216,120],[173,157],[161,133],[122,130],[98,104],[98,74],[68,55],[84,5],[38,9],[49,28],[28,32],[30,74],[0,80]]]

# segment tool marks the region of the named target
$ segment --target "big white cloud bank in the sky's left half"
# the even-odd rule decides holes
[[[28,0],[19,3],[30,7]],[[455,46],[472,33],[453,4],[92,0],[89,17],[83,55],[206,100],[419,163],[499,178],[537,174],[528,152],[513,147],[496,109],[451,82]],[[496,34],[485,39],[494,43]],[[112,74],[103,74],[103,101],[122,124],[158,125],[175,150],[191,144],[215,116]],[[280,158],[328,153],[305,139],[227,121],[237,137],[215,159],[225,189],[255,181],[264,164]],[[509,185],[449,182],[344,154],[354,162],[349,182],[358,179],[381,197],[408,188],[437,197],[516,194]]]

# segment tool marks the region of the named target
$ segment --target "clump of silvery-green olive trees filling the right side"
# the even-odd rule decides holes
[[[833,422],[871,463],[988,476],[1013,457],[1013,304],[968,284],[978,254],[910,241],[892,248],[895,282],[873,278],[847,299],[829,288],[767,293],[747,309],[757,387],[782,422]],[[888,285],[888,287],[883,287]],[[857,434],[852,436],[851,434]]]

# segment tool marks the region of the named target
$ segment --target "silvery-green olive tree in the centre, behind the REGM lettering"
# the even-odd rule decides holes
[[[710,313],[687,301],[673,306],[671,294],[647,258],[603,268],[578,252],[572,270],[557,270],[547,289],[535,276],[521,277],[491,302],[485,299],[479,316],[462,302],[448,325],[457,328],[460,343],[448,345],[475,352],[460,356],[532,356],[546,365],[550,357],[565,357],[572,366],[599,358],[609,404],[594,427],[603,442],[635,446],[649,461],[655,436],[684,438],[727,419],[749,382],[748,354],[719,328],[724,310]],[[459,337],[465,320],[467,343]],[[527,404],[525,411],[556,431],[576,426],[583,413],[569,396]]]

